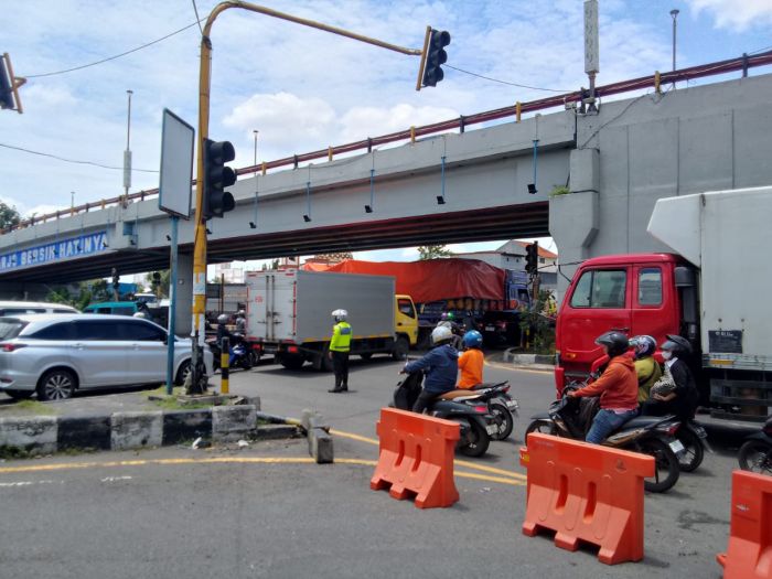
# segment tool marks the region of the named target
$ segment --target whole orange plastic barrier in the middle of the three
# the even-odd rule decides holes
[[[643,479],[654,474],[653,457],[536,432],[526,443],[523,534],[555,530],[555,545],[568,550],[598,545],[607,565],[643,559]]]

